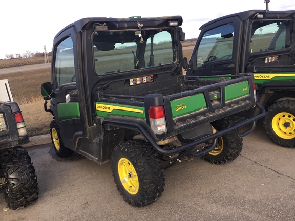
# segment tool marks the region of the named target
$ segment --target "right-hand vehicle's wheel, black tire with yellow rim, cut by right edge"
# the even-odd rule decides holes
[[[295,101],[283,100],[272,104],[265,115],[263,126],[274,143],[295,147]]]

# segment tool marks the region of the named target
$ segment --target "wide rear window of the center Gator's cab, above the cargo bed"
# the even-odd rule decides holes
[[[103,31],[93,34],[99,75],[174,63],[172,29]]]

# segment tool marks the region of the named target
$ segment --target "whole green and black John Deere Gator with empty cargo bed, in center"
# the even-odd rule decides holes
[[[157,200],[163,170],[176,162],[236,159],[241,137],[265,114],[251,73],[182,74],[181,24],[181,16],[78,20],[54,38],[52,82],[41,86],[57,155],[112,160],[117,189],[132,206]],[[232,116],[256,108],[256,117]]]

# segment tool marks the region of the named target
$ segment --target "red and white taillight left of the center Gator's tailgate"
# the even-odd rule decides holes
[[[151,106],[149,116],[151,128],[156,134],[167,131],[163,106]]]

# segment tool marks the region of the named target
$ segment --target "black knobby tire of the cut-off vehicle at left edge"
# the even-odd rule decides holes
[[[39,195],[37,176],[25,148],[13,147],[0,152],[0,169],[4,171],[7,206],[21,209],[36,202]]]

